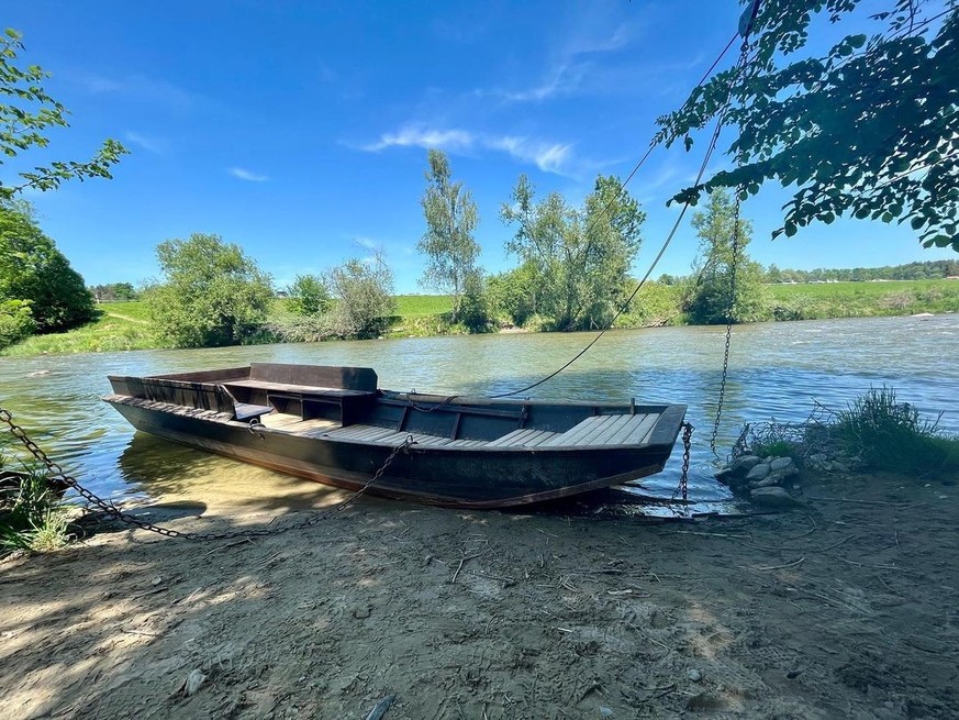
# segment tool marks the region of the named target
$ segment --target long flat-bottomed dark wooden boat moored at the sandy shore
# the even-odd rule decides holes
[[[685,406],[444,397],[380,390],[366,367],[254,363],[111,376],[137,430],[342,488],[502,508],[662,469]]]

